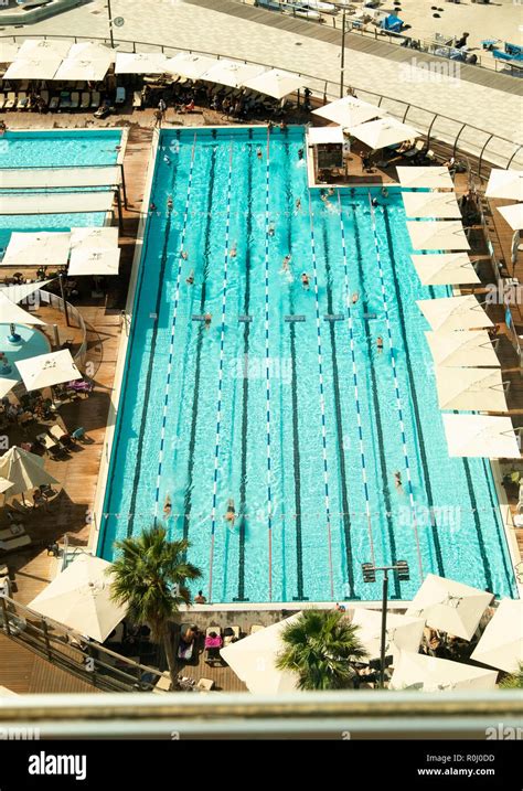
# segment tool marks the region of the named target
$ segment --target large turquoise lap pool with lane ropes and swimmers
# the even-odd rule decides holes
[[[393,598],[428,571],[514,596],[488,463],[447,456],[415,303],[447,290],[419,284],[399,193],[309,195],[301,128],[268,167],[262,128],[160,145],[99,553],[164,520],[214,602],[374,600],[361,564],[396,559]]]

